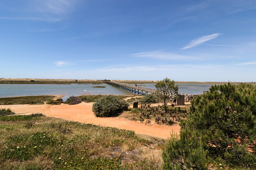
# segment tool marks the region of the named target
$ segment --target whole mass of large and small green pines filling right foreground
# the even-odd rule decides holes
[[[212,86],[191,101],[180,138],[163,151],[164,169],[255,169],[256,87]]]

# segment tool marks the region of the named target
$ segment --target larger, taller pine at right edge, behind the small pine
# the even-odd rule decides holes
[[[256,87],[212,86],[191,101],[181,134],[201,141],[208,157],[233,166],[256,168]]]

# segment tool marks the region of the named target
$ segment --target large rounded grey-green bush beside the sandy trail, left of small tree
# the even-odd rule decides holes
[[[121,113],[127,110],[129,104],[125,100],[121,100],[114,95],[102,97],[92,105],[92,111],[97,117],[108,117],[112,114]]]

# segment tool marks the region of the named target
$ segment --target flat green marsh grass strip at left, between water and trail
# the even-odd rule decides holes
[[[44,101],[52,100],[54,96],[23,96],[0,98],[0,105],[12,104],[44,104]]]

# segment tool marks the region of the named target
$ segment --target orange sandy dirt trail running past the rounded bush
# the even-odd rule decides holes
[[[59,117],[70,121],[133,130],[137,134],[146,134],[163,139],[170,137],[172,131],[177,134],[180,132],[180,126],[178,124],[172,126],[159,124],[148,126],[139,121],[131,121],[123,117],[95,117],[92,112],[92,103],[82,102],[76,105],[0,105],[0,108],[10,108],[17,114],[42,113],[46,116]]]

